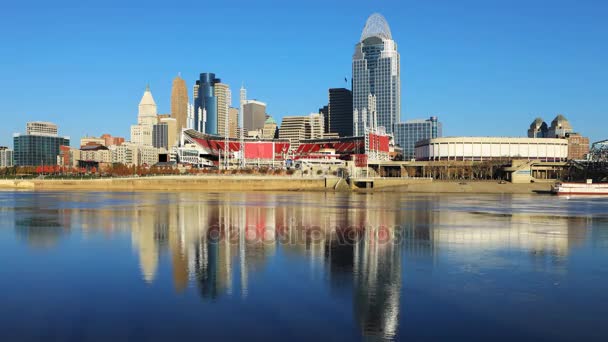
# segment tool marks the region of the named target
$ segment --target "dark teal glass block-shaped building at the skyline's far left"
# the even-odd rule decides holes
[[[28,122],[26,131],[32,134],[15,134],[13,135],[13,159],[16,166],[39,166],[39,165],[57,165],[57,156],[60,154],[60,146],[69,146],[69,137],[60,137],[57,134],[52,135],[48,131],[42,134],[39,130],[31,130],[31,125]],[[35,123],[34,123],[35,124]],[[57,126],[50,124],[47,127]]]

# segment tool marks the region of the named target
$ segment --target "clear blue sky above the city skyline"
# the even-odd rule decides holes
[[[171,82],[215,72],[236,104],[280,121],[344,86],[366,18],[383,14],[401,53],[401,119],[438,115],[444,135],[522,136],[557,113],[608,138],[608,1],[5,1],[0,5],[0,145],[48,120],[72,144],[128,139],[146,83],[160,113]]]

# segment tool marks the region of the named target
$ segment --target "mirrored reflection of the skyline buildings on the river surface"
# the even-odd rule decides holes
[[[158,281],[165,255],[177,293],[192,287],[204,299],[247,298],[253,295],[252,275],[265,272],[278,254],[307,260],[311,273],[328,279],[334,296],[352,294],[360,331],[384,338],[399,336],[408,272],[404,261],[425,258],[492,268],[507,251],[529,255],[532,267],[541,271],[566,272],[568,254],[590,233],[608,240],[605,231],[589,229],[606,222],[597,213],[522,212],[517,197],[477,202],[398,194],[23,196],[34,200],[27,207],[15,203],[15,229],[28,244],[56,245],[72,227],[85,235],[124,232],[130,234],[143,281]],[[580,210],[576,202],[550,210],[568,213],[574,207]]]

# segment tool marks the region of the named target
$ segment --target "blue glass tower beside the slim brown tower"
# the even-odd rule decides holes
[[[217,131],[217,96],[215,85],[221,83],[213,73],[202,73],[194,86],[194,129],[218,134]]]

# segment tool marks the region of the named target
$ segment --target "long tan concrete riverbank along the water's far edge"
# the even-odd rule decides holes
[[[0,189],[88,191],[364,191],[410,193],[542,193],[550,183],[501,184],[497,181],[433,181],[417,178],[376,178],[369,189],[352,189],[337,177],[289,176],[156,176],[104,179],[0,180]]]

